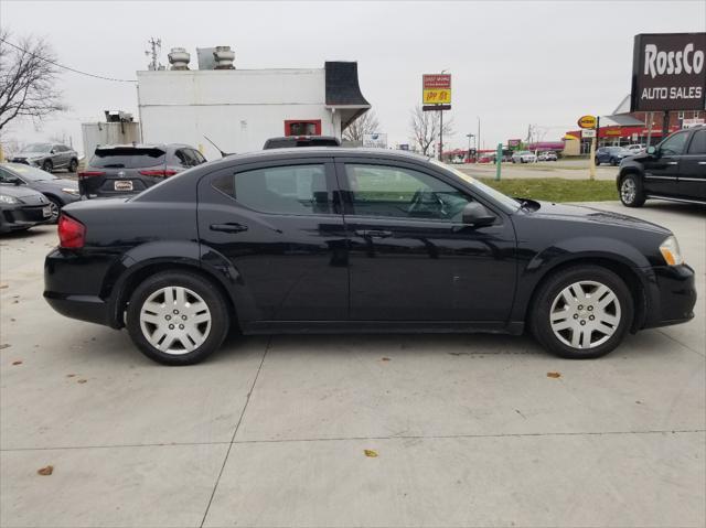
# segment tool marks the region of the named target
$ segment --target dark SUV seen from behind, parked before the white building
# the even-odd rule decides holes
[[[201,152],[181,143],[101,146],[78,173],[78,188],[87,198],[138,194],[205,162]]]

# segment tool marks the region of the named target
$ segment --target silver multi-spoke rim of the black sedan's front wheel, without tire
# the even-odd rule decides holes
[[[549,311],[557,340],[573,348],[588,349],[606,343],[621,321],[620,301],[606,284],[574,282],[561,290]]]

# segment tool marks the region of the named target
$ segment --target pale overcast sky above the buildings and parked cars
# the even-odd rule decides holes
[[[107,77],[147,69],[150,37],[171,47],[231,45],[237,68],[323,67],[357,61],[363,95],[388,143],[409,142],[421,75],[452,74],[454,133],[493,148],[534,125],[559,140],[586,114],[610,115],[630,91],[638,33],[706,31],[706,1],[19,1],[0,0],[0,26],[44,37],[58,62]],[[81,122],[103,110],[137,116],[132,83],[65,72],[69,106],[40,126],[15,122],[3,140],[66,137],[81,149]]]

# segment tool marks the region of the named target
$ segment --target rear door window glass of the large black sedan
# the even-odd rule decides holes
[[[333,214],[323,164],[256,169],[217,177],[213,185],[263,213]]]

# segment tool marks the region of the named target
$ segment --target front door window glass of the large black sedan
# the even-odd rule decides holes
[[[422,172],[397,166],[346,164],[355,215],[461,222],[471,201]]]

